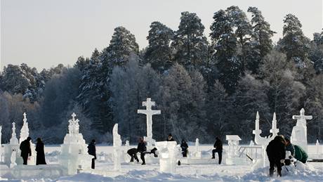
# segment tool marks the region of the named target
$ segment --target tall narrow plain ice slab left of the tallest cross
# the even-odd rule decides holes
[[[114,170],[121,170],[121,136],[118,134],[118,124],[114,124],[113,130],[113,164]]]

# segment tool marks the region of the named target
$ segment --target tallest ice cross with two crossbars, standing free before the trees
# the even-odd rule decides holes
[[[155,103],[151,98],[147,98],[147,101],[143,102],[143,106],[146,106],[146,110],[138,110],[138,114],[144,114],[147,116],[147,138],[152,138],[152,115],[160,115],[160,110],[152,110],[152,106]]]

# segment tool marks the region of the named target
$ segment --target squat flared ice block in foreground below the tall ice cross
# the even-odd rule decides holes
[[[176,172],[176,141],[156,142],[156,148],[159,151],[159,167],[161,172]]]

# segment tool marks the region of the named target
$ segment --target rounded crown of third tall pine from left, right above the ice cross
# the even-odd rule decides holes
[[[182,12],[172,43],[174,60],[187,70],[202,70],[206,67],[207,44],[201,19],[196,13]]]

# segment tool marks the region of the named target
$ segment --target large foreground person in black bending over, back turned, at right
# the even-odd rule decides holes
[[[282,176],[282,163],[284,163],[286,155],[286,141],[284,136],[279,135],[270,141],[267,145],[266,152],[269,160],[269,176],[274,175],[275,166],[277,167],[277,173],[279,176]]]

